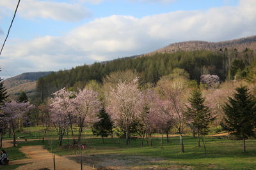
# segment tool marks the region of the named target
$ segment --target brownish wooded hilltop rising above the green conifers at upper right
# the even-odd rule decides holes
[[[180,43],[173,43],[164,48],[160,48],[154,52],[145,53],[144,55],[154,55],[155,53],[173,53],[179,51],[195,51],[195,50],[209,50],[220,51],[225,48],[236,48],[239,52],[242,52],[246,48],[256,50],[256,36],[250,36],[246,38],[233,39],[230,41],[220,41],[217,43],[207,41],[185,41]]]

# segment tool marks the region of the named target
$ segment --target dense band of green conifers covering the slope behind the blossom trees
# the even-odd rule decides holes
[[[102,82],[109,73],[115,71],[125,71],[132,69],[140,73],[143,83],[153,83],[161,76],[172,73],[176,67],[182,68],[189,73],[191,80],[200,81],[202,74],[217,74],[221,81],[234,79],[232,76],[232,62],[241,60],[243,66],[235,67],[235,71],[240,67],[246,69],[254,57],[253,50],[246,48],[244,52],[237,52],[236,48],[232,50],[220,49],[218,52],[211,51],[193,51],[193,52],[175,52],[175,53],[156,53],[152,56],[127,57],[116,59],[109,62],[96,62],[90,66],[78,66],[70,70],[58,71],[40,78],[36,85],[37,100],[42,103],[52,92],[56,92],[63,87],[81,88],[90,80]],[[241,62],[238,62],[241,64]],[[238,64],[238,65],[239,65]],[[241,70],[240,70],[241,71]],[[233,70],[234,72],[234,70]],[[234,74],[234,73],[233,73]]]

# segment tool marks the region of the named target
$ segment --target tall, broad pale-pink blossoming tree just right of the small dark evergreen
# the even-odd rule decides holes
[[[129,145],[131,125],[143,110],[143,94],[138,89],[138,78],[118,83],[109,92],[106,101],[106,111],[117,127],[125,129],[126,145]]]

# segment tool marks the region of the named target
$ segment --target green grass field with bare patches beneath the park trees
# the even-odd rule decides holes
[[[185,153],[180,153],[179,138],[170,138],[170,142],[164,141],[160,148],[160,139],[154,138],[153,146],[140,146],[140,139],[132,140],[131,145],[126,146],[124,139],[118,143],[117,138],[107,138],[102,143],[100,138],[84,139],[88,148],[83,150],[85,164],[95,167],[170,167],[172,169],[255,169],[256,167],[256,140],[246,141],[247,153],[243,153],[242,141],[231,141],[216,137],[206,138],[207,155],[204,148],[196,145],[193,137],[184,137]],[[64,140],[63,145],[67,144]],[[44,145],[45,148],[58,155],[73,155],[70,159],[79,161],[78,152],[75,149],[59,148],[57,140],[28,141],[19,143],[24,145]],[[18,153],[17,148],[8,148],[6,151],[10,159],[24,157]],[[20,156],[17,156],[20,155]],[[77,156],[76,156],[77,155]]]

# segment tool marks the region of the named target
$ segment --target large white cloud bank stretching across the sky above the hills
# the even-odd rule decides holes
[[[252,36],[256,34],[255,11],[256,1],[241,0],[238,6],[207,11],[97,18],[65,36],[45,36],[7,45],[0,62],[14,75],[25,70],[58,70],[151,52],[177,41],[223,41]]]

